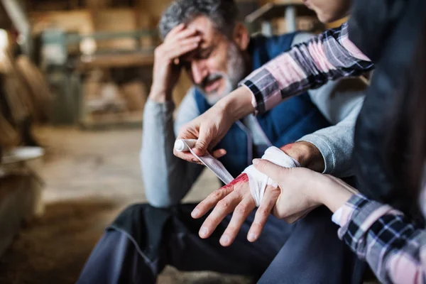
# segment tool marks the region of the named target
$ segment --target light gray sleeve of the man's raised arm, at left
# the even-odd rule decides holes
[[[174,109],[173,102],[150,99],[144,109],[140,161],[146,198],[154,207],[179,204],[203,170],[173,155],[175,131],[199,115],[192,89],[180,104],[175,123]]]

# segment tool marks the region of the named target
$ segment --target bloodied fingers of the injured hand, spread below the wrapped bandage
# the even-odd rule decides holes
[[[253,224],[247,236],[249,241],[256,241],[256,239],[258,239],[279,195],[280,190],[278,188],[271,186],[266,187],[262,204],[256,212]],[[253,209],[256,208],[256,203],[251,196],[247,174],[243,173],[239,175],[239,177],[229,185],[225,185],[219,188],[219,190],[212,192],[205,200],[195,207],[191,216],[195,219],[200,218],[213,207],[212,213],[209,214],[209,217],[207,217],[201,226],[199,232],[200,237],[202,239],[207,239],[226,215],[234,212],[231,222],[229,222],[228,227],[220,239],[220,244],[222,244],[222,246],[230,246],[244,221],[249,217]]]

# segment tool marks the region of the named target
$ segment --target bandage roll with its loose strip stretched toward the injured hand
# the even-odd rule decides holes
[[[195,143],[197,143],[197,140],[194,139],[178,139],[175,141],[175,150],[178,152],[191,152],[192,155],[195,155],[195,153],[192,151],[192,148],[195,147]],[[206,152],[203,156],[195,155],[195,158],[200,160],[201,163],[203,163],[209,170],[211,170],[214,175],[219,178],[219,180],[222,180],[225,185],[229,184],[234,178],[232,175],[226,170],[224,165],[219,162],[219,160],[213,158],[212,155],[210,155],[208,152]]]

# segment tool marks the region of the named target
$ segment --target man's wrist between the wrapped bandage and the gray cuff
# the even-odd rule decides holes
[[[299,141],[285,145],[281,148],[291,158],[297,160],[303,168],[309,168],[316,172],[324,172],[324,158],[318,148],[309,142]]]

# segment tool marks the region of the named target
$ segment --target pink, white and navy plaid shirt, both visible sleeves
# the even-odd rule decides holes
[[[253,93],[256,112],[322,86],[327,80],[359,76],[373,63],[348,38],[348,26],[325,31],[295,45],[241,82]],[[354,195],[340,209],[339,237],[365,259],[383,283],[426,283],[426,230],[401,212]]]

